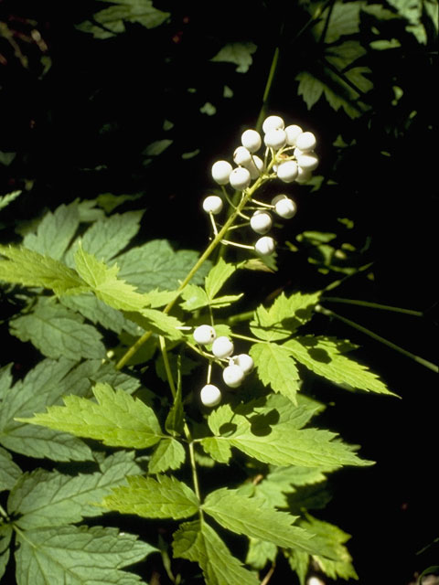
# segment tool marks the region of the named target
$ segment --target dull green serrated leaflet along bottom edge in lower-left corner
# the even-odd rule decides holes
[[[17,585],[134,585],[138,575],[121,571],[156,548],[117,528],[47,527],[18,533]]]

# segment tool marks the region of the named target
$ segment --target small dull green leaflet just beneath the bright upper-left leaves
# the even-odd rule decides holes
[[[67,308],[80,313],[93,324],[102,324],[105,329],[121,333],[126,324],[123,314],[103,303],[92,293],[62,296],[59,302]]]

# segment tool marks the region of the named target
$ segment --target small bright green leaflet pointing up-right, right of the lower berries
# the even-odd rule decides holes
[[[289,337],[313,316],[320,293],[294,293],[286,297],[281,293],[269,309],[260,305],[250,324],[252,334],[265,341],[276,341]]]

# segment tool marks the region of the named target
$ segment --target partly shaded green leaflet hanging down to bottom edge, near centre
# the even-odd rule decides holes
[[[229,548],[205,522],[185,522],[174,533],[174,556],[201,567],[207,585],[258,585],[257,576],[232,557]]]

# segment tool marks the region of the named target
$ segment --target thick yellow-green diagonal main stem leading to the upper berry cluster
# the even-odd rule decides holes
[[[208,260],[210,254],[215,250],[215,248],[219,245],[221,239],[224,238],[228,229],[233,224],[235,219],[240,215],[242,209],[245,207],[246,203],[251,199],[253,193],[259,189],[260,186],[263,185],[265,181],[268,180],[266,176],[260,176],[256,179],[251,187],[249,187],[246,192],[243,192],[243,197],[241,197],[241,201],[230,214],[230,217],[227,219],[226,223],[219,229],[218,234],[215,236],[214,239],[210,242],[209,246],[204,250],[201,256],[198,258],[198,261],[194,264],[192,269],[188,271],[187,277],[183,282],[181,282],[180,286],[177,289],[177,293],[181,293],[183,289],[187,286],[187,284],[192,280],[201,266],[204,264],[205,261]],[[244,195],[245,193],[245,195]],[[178,295],[170,302],[166,304],[166,307],[163,309],[164,314],[170,313],[171,309],[174,307],[175,303],[177,303]],[[121,357],[119,362],[116,364],[116,369],[122,369],[123,366],[134,356],[134,354],[145,344],[145,342],[153,335],[152,331],[146,331],[144,335],[139,337],[137,341],[131,346],[125,354]]]

